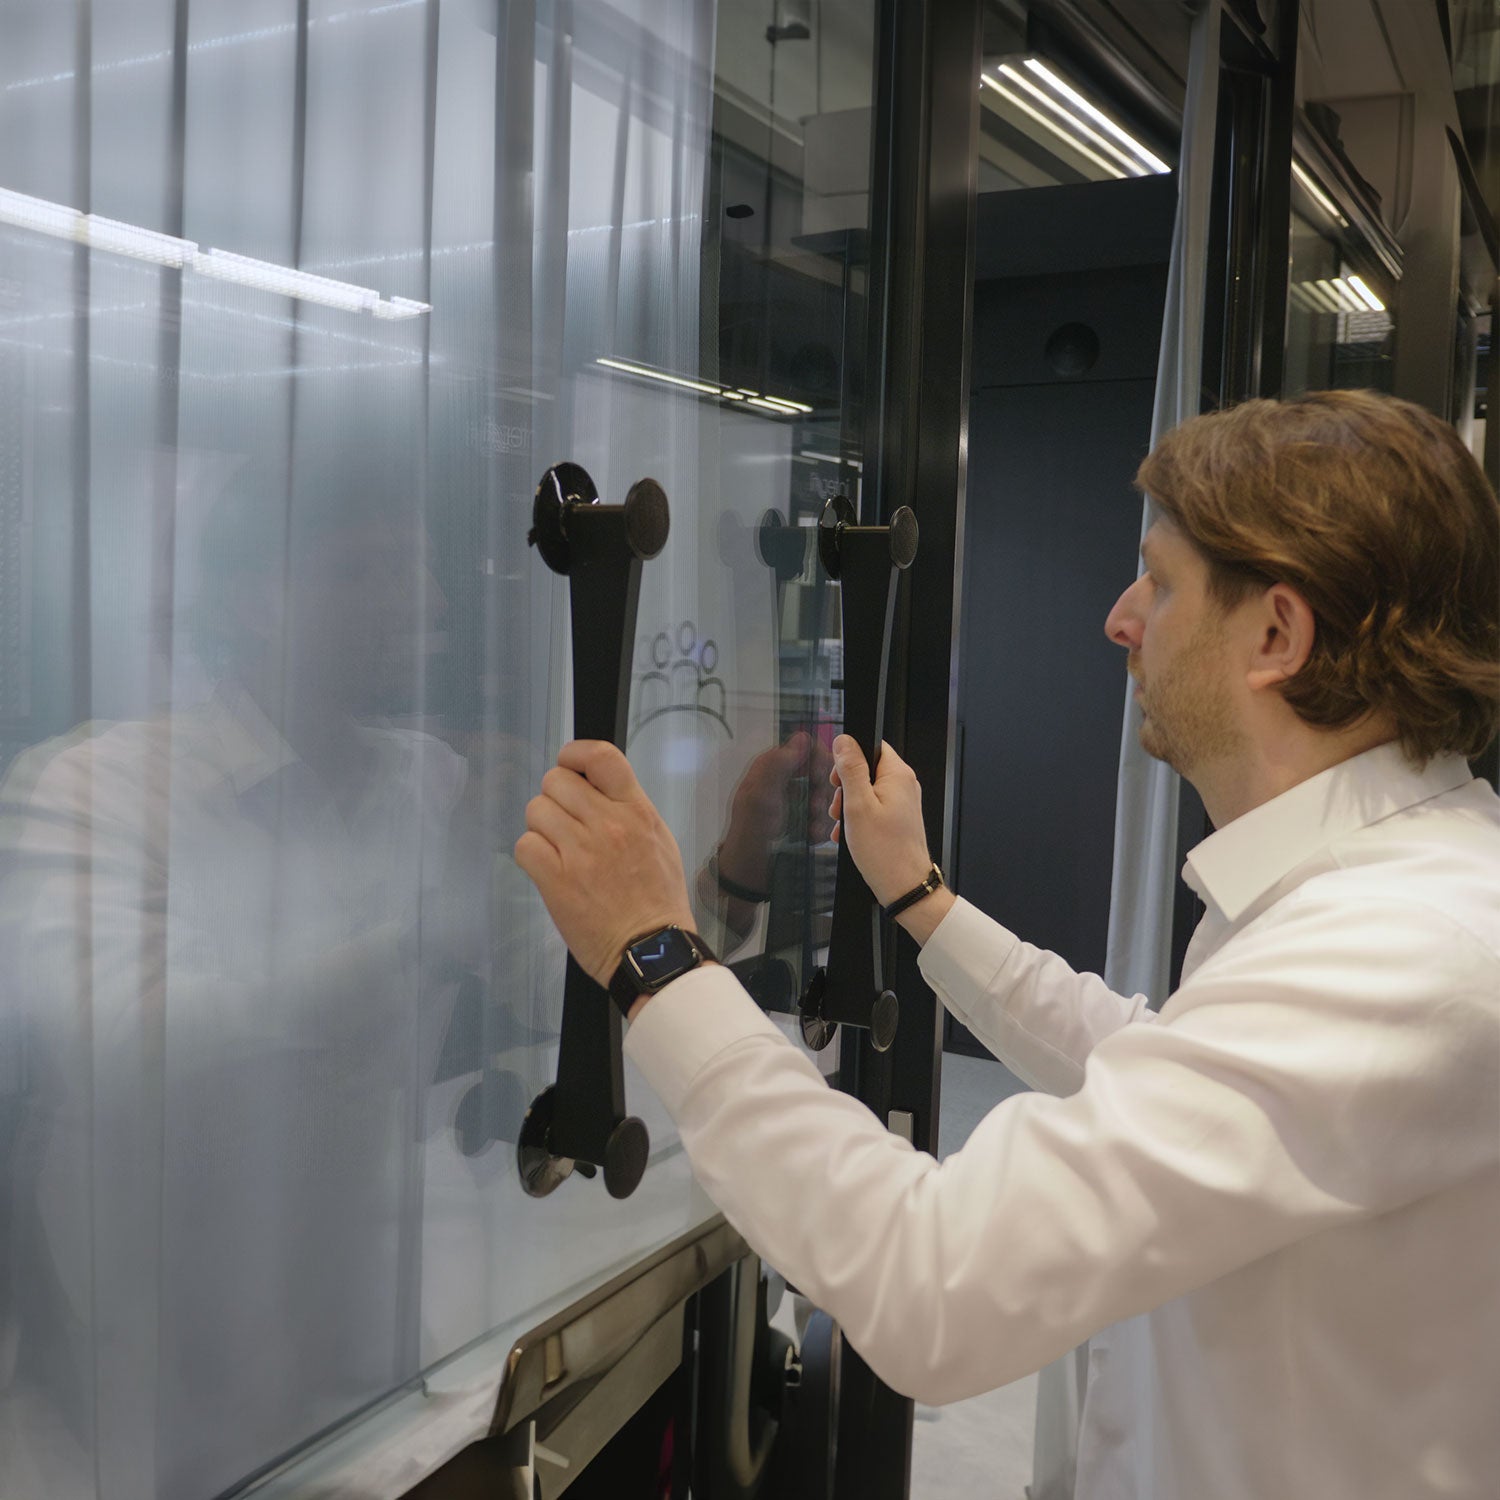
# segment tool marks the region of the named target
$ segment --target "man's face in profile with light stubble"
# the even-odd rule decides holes
[[[1230,622],[1209,597],[1209,566],[1170,522],[1142,543],[1146,572],[1120,594],[1106,634],[1130,652],[1142,748],[1191,780],[1244,741],[1236,716]]]

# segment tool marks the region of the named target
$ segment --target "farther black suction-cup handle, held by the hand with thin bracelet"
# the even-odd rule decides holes
[[[902,506],[888,526],[856,525],[854,506],[834,495],[818,519],[818,555],[838,580],[843,610],[844,734],[864,750],[870,776],[885,732],[885,684],[902,573],[916,556],[916,516]],[[813,972],[801,1002],[802,1040],[822,1050],[838,1026],[870,1032],[876,1052],[896,1040],[900,1006],[885,982],[880,903],[838,840],[828,963]]]

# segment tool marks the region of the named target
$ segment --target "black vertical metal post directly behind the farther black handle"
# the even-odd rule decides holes
[[[915,768],[939,862],[950,838],[951,684],[968,456],[974,300],[980,0],[884,0],[872,162],[872,266],[864,506],[890,522],[909,504],[921,548],[892,640],[885,738]],[[890,1052],[846,1032],[838,1084],[938,1148],[942,1026],[900,934],[900,1028]],[[914,1406],[858,1353],[842,1352],[838,1500],[898,1500],[910,1484]]]

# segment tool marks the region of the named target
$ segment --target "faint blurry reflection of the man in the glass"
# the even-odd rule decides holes
[[[484,898],[446,880],[450,826],[482,820],[465,762],[372,717],[420,700],[420,543],[388,476],[290,502],[248,476],[204,540],[212,696],[40,747],[4,796],[34,1068],[16,1383],[87,1444],[96,1383],[159,1371],[130,1418],[164,1500],[416,1366],[435,978],[480,962]]]

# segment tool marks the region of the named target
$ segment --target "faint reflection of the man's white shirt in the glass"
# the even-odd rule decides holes
[[[78,1492],[98,1466],[218,1494],[410,1376],[414,934],[466,768],[423,734],[354,738],[339,808],[224,687],[39,747],[0,788],[0,1008],[32,1074],[21,1354],[92,1444]],[[0,1494],[69,1496],[63,1462],[32,1420],[0,1437]]]

